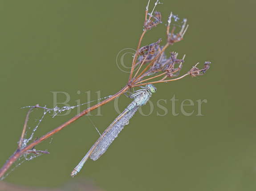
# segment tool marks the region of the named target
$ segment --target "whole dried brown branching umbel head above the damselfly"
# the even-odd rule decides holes
[[[157,4],[159,4],[159,0],[157,0],[154,5],[156,6]],[[160,12],[154,12],[154,16],[153,16],[152,13],[155,8],[154,6],[153,11],[150,14],[148,14],[148,6],[149,4],[146,7],[146,18],[144,23],[144,28],[146,30],[144,30],[142,33],[141,39],[139,41],[139,45],[146,31],[150,30],[152,27],[156,27],[156,25],[161,22]],[[149,19],[147,18],[148,15],[149,15]],[[183,19],[183,23],[179,32],[175,33],[175,26],[173,26],[172,29],[170,29],[172,19],[174,19],[174,21],[177,22],[179,20],[179,17],[172,14],[172,12],[168,17],[167,42],[165,46],[159,45],[159,43],[161,42],[161,39],[159,39],[156,43],[152,43],[148,46],[144,46],[141,48],[139,48],[138,46],[138,51],[134,57],[134,61],[132,64],[133,67],[132,67],[129,82],[128,82],[129,87],[142,86],[148,83],[161,83],[161,82],[175,81],[175,80],[184,78],[187,75],[191,75],[192,77],[195,77],[198,75],[203,75],[209,69],[210,62],[205,62],[203,69],[197,68],[196,67],[197,64],[196,64],[186,74],[178,77],[179,72],[182,69],[183,63],[185,62],[184,61],[185,55],[183,56],[182,59],[180,59],[178,58],[178,53],[172,51],[171,55],[167,56],[165,54],[165,50],[167,49],[168,46],[173,45],[174,43],[177,43],[183,39],[187,31],[188,25],[187,25],[187,19]],[[132,77],[132,72],[135,66],[139,66],[139,67],[134,77]],[[142,70],[141,73],[139,73],[139,70],[143,68],[143,66],[144,66],[144,69]],[[152,77],[148,77],[148,76],[152,76]],[[162,78],[153,82],[150,81],[152,79],[159,78],[159,77],[162,77]],[[178,77],[178,78],[175,78],[175,77]]]

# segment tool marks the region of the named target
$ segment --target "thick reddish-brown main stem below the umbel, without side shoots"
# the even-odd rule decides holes
[[[16,152],[13,153],[13,155],[6,161],[6,163],[4,164],[4,166],[0,169],[0,178],[5,174],[5,172],[12,166],[12,164],[20,157],[24,154],[24,152],[28,151],[29,149],[33,148],[34,146],[36,146],[37,144],[41,143],[42,141],[44,141],[45,139],[48,139],[50,136],[53,136],[55,133],[58,133],[61,129],[63,129],[64,127],[66,127],[67,125],[73,123],[74,121],[76,121],[77,119],[79,119],[80,117],[86,115],[87,113],[89,113],[90,111],[92,111],[93,109],[97,109],[98,107],[105,105],[106,103],[112,101],[114,98],[122,95],[123,93],[125,93],[127,90],[129,89],[129,86],[125,86],[124,88],[122,88],[122,90],[118,91],[116,94],[114,94],[113,96],[107,98],[106,100],[93,105],[92,107],[85,109],[84,111],[82,111],[81,113],[79,113],[77,116],[71,118],[69,121],[65,122],[64,124],[60,125],[59,127],[53,129],[52,131],[50,131],[49,133],[45,134],[44,136],[41,136],[39,139],[35,140],[34,142],[32,142],[31,144],[29,144],[28,146],[26,146],[23,149],[18,148],[16,150]]]

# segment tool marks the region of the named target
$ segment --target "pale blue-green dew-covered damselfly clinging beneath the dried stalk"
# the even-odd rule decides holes
[[[77,175],[88,158],[97,160],[104,152],[106,152],[107,148],[122,131],[124,126],[129,124],[130,118],[134,116],[138,108],[145,105],[150,99],[152,93],[155,92],[156,88],[152,84],[148,84],[145,87],[142,87],[142,89],[135,91],[134,94],[130,96],[134,101],[126,107],[126,109],[110,124],[110,126],[93,144],[84,158],[71,172],[72,177]]]

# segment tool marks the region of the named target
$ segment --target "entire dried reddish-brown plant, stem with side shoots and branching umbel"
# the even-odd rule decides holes
[[[171,28],[171,22],[173,19],[176,19],[176,16],[174,16],[171,12],[169,18],[167,19],[167,42],[164,46],[160,46],[160,43],[162,42],[161,39],[158,39],[155,43],[151,43],[148,46],[141,47],[142,39],[146,32],[150,31],[152,28],[157,27],[159,23],[162,23],[161,21],[161,13],[154,11],[155,7],[160,4],[159,0],[157,0],[154,4],[154,8],[151,12],[148,11],[149,3],[146,6],[146,12],[145,12],[145,21],[143,26],[143,32],[142,35],[139,38],[137,51],[135,52],[133,62],[131,63],[131,70],[130,75],[127,84],[122,88],[122,90],[118,91],[116,94],[114,94],[111,97],[106,98],[104,101],[99,102],[96,105],[93,105],[84,111],[82,111],[80,114],[74,116],[69,121],[66,121],[64,124],[58,126],[57,128],[53,129],[49,133],[46,133],[45,135],[37,138],[30,144],[25,144],[23,146],[24,142],[24,134],[27,129],[27,122],[28,117],[31,112],[31,109],[29,109],[24,127],[22,130],[22,134],[20,136],[20,141],[18,143],[18,148],[13,153],[12,156],[6,161],[4,166],[0,169],[0,178],[3,177],[3,175],[6,173],[6,171],[12,166],[12,164],[21,156],[28,153],[34,153],[34,154],[42,154],[42,153],[48,153],[45,151],[37,151],[35,149],[35,146],[37,144],[40,144],[42,141],[48,139],[49,137],[53,136],[55,133],[58,133],[61,131],[61,129],[67,127],[69,124],[73,123],[80,117],[86,115],[90,111],[97,109],[98,107],[105,105],[106,103],[114,100],[116,97],[124,94],[126,91],[128,91],[130,88],[134,88],[137,86],[144,86],[147,84],[155,84],[155,83],[163,83],[163,82],[171,82],[176,81],[181,78],[184,78],[186,76],[199,76],[203,75],[210,67],[211,62],[205,62],[202,69],[199,69],[197,67],[198,63],[191,68],[191,70],[187,71],[187,73],[179,76],[179,72],[182,69],[185,55],[183,55],[182,59],[178,58],[178,53],[171,52],[170,56],[168,57],[165,53],[167,47],[170,45],[173,45],[174,43],[177,43],[181,40],[183,40],[184,35],[187,31],[188,25],[187,25],[187,19],[183,19],[182,26],[179,27],[179,30],[177,31],[175,26]],[[136,70],[136,73],[134,72],[134,69],[138,68]],[[35,105],[34,108],[43,108],[39,105]]]

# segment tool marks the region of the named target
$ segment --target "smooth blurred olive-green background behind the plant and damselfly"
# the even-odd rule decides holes
[[[157,10],[167,23],[172,11],[187,18],[190,27],[183,41],[168,51],[186,54],[182,74],[196,62],[211,61],[201,77],[157,85],[151,98],[153,113],[139,113],[98,160],[89,160],[76,178],[70,172],[98,138],[82,117],[46,140],[48,149],[16,168],[4,181],[28,187],[63,187],[68,182],[92,181],[106,191],[255,191],[255,4],[253,0],[162,0]],[[136,48],[142,32],[146,0],[2,0],[0,3],[0,165],[15,151],[27,105],[53,107],[53,91],[86,102],[114,94],[128,74],[116,66],[116,56]],[[152,8],[154,1],[151,2]],[[146,34],[142,45],[166,39],[164,24]],[[163,42],[162,42],[163,44]],[[78,95],[77,91],[81,94]],[[170,99],[207,99],[204,116],[171,114]],[[63,101],[65,97],[59,97]],[[156,103],[167,100],[169,113],[157,116]],[[129,99],[122,96],[119,108]],[[195,102],[196,103],[196,102]],[[163,105],[163,102],[161,102]],[[81,107],[85,109],[86,106]],[[147,112],[148,105],[143,108]],[[29,125],[41,117],[33,112]],[[41,136],[73,117],[46,117],[37,131]],[[114,102],[93,111],[90,119],[103,132],[117,113]],[[75,190],[69,188],[68,190]]]

